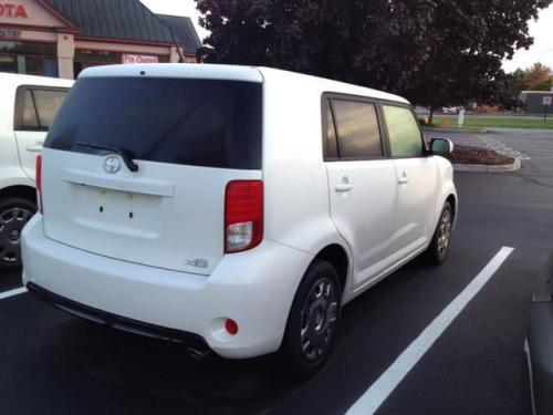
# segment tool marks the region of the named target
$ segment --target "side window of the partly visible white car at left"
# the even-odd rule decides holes
[[[20,87],[15,103],[15,129],[48,131],[65,101],[67,92],[67,90],[58,89]]]

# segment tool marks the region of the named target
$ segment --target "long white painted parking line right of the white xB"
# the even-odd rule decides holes
[[[378,380],[347,411],[347,415],[372,415],[422,359],[467,304],[480,292],[514,248],[503,247],[480,273],[444,309],[422,333],[396,359]]]

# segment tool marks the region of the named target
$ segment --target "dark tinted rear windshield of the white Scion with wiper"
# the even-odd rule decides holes
[[[79,145],[90,143],[125,148],[142,160],[259,169],[261,95],[261,84],[253,82],[84,77],[45,147],[98,152]]]

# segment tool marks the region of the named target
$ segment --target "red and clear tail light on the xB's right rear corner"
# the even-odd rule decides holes
[[[263,181],[229,181],[225,191],[225,252],[254,248],[262,239]]]

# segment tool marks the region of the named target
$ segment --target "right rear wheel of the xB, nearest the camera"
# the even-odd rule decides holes
[[[323,366],[334,345],[341,304],[336,269],[326,261],[313,262],[294,297],[284,339],[273,362],[279,372],[305,378]]]

